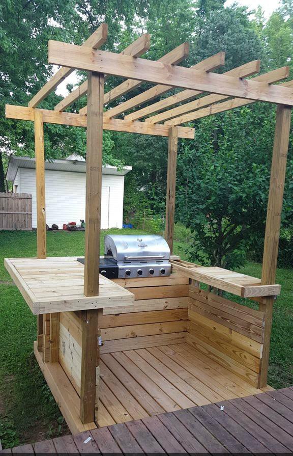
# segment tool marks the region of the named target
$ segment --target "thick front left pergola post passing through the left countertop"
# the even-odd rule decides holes
[[[104,75],[89,73],[87,86],[84,294],[99,293]],[[80,419],[95,421],[99,403],[99,309],[82,312]]]

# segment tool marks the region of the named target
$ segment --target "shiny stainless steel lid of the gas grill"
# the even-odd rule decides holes
[[[170,249],[162,236],[150,234],[107,234],[105,256],[116,261],[169,260]]]

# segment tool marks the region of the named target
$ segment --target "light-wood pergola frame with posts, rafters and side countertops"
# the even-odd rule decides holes
[[[288,77],[288,67],[285,66],[254,76],[260,68],[260,62],[256,60],[226,73],[218,74],[213,71],[224,65],[224,52],[219,52],[191,68],[185,68],[184,66],[178,66],[178,64],[188,56],[188,43],[183,43],[158,61],[151,61],[140,58],[150,47],[150,36],[148,34],[139,37],[120,54],[99,49],[106,39],[107,25],[102,24],[82,46],[49,41],[49,63],[61,65],[61,68],[32,98],[28,106],[6,105],[6,117],[30,120],[35,124],[38,252],[38,260],[6,260],[6,267],[32,311],[38,314],[39,338],[35,353],[46,380],[73,432],[92,428],[95,426],[95,422],[98,423],[100,346],[98,345],[97,347],[97,339],[101,334],[101,328],[103,328],[101,323],[105,317],[103,309],[115,306],[114,309],[118,312],[118,306],[133,305],[134,300],[131,292],[133,290],[131,287],[134,285],[112,282],[110,286],[110,281],[99,276],[103,129],[168,137],[165,238],[172,251],[178,138],[194,138],[194,129],[190,126],[182,125],[205,116],[235,109],[257,101],[277,104],[261,279],[236,274],[220,268],[201,267],[178,258],[173,258],[172,260],[174,275],[171,277],[180,276],[183,278],[180,280],[186,280],[187,278],[190,283],[189,286],[192,287],[189,296],[193,296],[192,293],[197,293],[197,300],[200,300],[199,294],[204,293],[204,291],[198,291],[200,288],[199,282],[203,282],[212,287],[253,299],[259,303],[259,315],[263,316],[263,323],[261,324],[263,328],[261,335],[257,333],[257,337],[255,336],[254,340],[261,347],[257,348],[257,350],[259,349],[259,353],[257,353],[260,354],[257,371],[252,369],[253,372],[257,372],[257,377],[254,378],[252,375],[253,381],[251,380],[252,377],[250,377],[251,383],[256,388],[267,386],[273,303],[277,294],[280,293],[280,286],[276,285],[275,281],[290,115],[293,105],[293,81],[278,85],[275,85],[275,83]],[[60,101],[53,110],[39,109],[38,105],[41,101],[54,91],[58,84],[75,69],[86,70],[88,72],[87,80]],[[123,77],[125,81],[104,93],[104,81],[109,75]],[[253,77],[248,79],[247,77],[249,76]],[[139,87],[143,82],[149,82],[153,86],[104,112],[105,105]],[[182,90],[167,98],[154,101],[143,108],[140,107],[175,89]],[[79,113],[65,111],[74,101],[85,94],[87,94],[87,105]],[[201,94],[206,95],[198,98],[198,95]],[[136,108],[135,111],[133,111],[134,108]],[[117,116],[123,118],[117,118]],[[27,270],[30,268],[34,269],[36,267],[39,274],[49,274],[49,280],[51,277],[50,271],[54,270],[54,267],[57,267],[58,271],[64,265],[73,267],[73,259],[70,259],[70,257],[64,259],[46,258],[43,133],[43,123],[45,122],[84,127],[87,134],[84,281],[83,290],[79,290],[78,296],[75,294],[74,297],[72,292],[68,291],[66,294],[64,291],[58,294],[56,298],[56,294],[52,298],[52,294],[48,292],[47,298],[40,299],[32,285],[32,283],[36,284],[34,281],[37,279],[32,278],[31,282],[27,279],[29,276]],[[31,262],[28,260],[31,260]],[[36,261],[38,262],[36,263]],[[77,266],[74,265],[74,267]],[[23,273],[23,271],[26,271],[26,273]],[[73,269],[70,271],[73,271]],[[79,274],[79,270],[76,274]],[[69,280],[68,271],[66,277]],[[59,281],[61,279],[62,276],[59,277]],[[132,280],[139,282],[138,279]],[[161,280],[160,285],[163,284],[163,279]],[[136,286],[147,286],[141,285],[140,282]],[[56,284],[47,283],[47,286],[51,287],[50,290],[55,289],[54,286],[57,287]],[[121,285],[124,287],[123,289]],[[41,282],[38,286],[41,287]],[[130,289],[127,290],[127,288]],[[206,299],[210,299],[208,295]],[[240,311],[238,308],[234,308],[236,306],[235,303],[231,301],[224,302],[225,300],[220,299],[222,301],[219,301],[219,303],[224,307],[228,306],[228,302],[231,309],[234,309],[233,312]],[[61,312],[65,314],[73,311],[79,312],[82,332],[78,413],[75,410],[75,406],[70,403],[71,399],[66,395],[64,396],[64,390],[58,385],[56,378],[58,374],[54,374],[49,367],[52,364],[54,367],[51,366],[51,368],[55,369],[59,360],[59,315]],[[198,312],[200,313],[200,309]],[[204,310],[204,312],[207,315],[207,310]],[[188,317],[189,320],[190,318]],[[253,325],[257,326],[252,316],[250,321],[253,321]],[[225,324],[228,328],[231,328],[227,322]],[[47,330],[48,326],[49,329]],[[234,330],[235,327],[233,326],[232,329]],[[249,331],[253,333],[252,329]],[[245,337],[249,335],[246,327],[239,328],[239,333],[245,334]],[[191,340],[193,337],[192,331],[188,330],[187,334],[189,334],[188,337]],[[47,339],[49,340],[46,339],[46,336],[48,336]],[[222,335],[221,337],[228,336]],[[195,343],[194,340],[192,343]],[[122,350],[125,350],[125,348],[122,348]],[[43,352],[43,358],[40,355],[41,351]],[[109,353],[109,351],[105,353]],[[231,371],[234,371],[233,369],[236,368],[230,368]],[[240,372],[241,375],[243,377],[243,373]]]

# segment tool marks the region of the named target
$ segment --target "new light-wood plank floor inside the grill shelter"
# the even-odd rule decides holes
[[[262,391],[187,343],[101,356],[99,427]]]

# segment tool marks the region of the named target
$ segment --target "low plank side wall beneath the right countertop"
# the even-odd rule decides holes
[[[187,343],[258,387],[265,314],[191,285]]]

